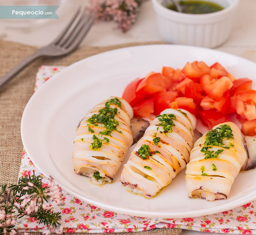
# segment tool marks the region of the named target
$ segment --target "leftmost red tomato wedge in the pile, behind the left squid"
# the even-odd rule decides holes
[[[145,95],[136,95],[135,93],[137,86],[142,80],[143,78],[137,78],[134,81],[130,82],[124,89],[122,98],[130,103],[131,106],[145,99]]]

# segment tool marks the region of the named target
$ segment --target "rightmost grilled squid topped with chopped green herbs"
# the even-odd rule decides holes
[[[235,123],[213,127],[196,141],[190,153],[185,176],[189,197],[227,199],[246,158],[243,136]]]

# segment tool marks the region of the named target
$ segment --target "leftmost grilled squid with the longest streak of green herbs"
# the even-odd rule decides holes
[[[97,185],[112,182],[133,142],[132,117],[132,107],[118,97],[110,97],[89,110],[76,129],[75,173],[91,178]]]

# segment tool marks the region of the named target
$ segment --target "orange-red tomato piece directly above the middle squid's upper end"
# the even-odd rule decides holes
[[[198,114],[198,106],[194,102],[192,98],[187,97],[177,97],[170,104],[171,108],[183,108],[188,110],[190,113],[197,115]]]

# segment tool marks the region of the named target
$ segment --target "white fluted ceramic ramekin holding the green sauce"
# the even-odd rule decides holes
[[[152,0],[158,29],[167,43],[214,48],[228,39],[239,0],[208,0],[225,7],[208,14],[186,14],[166,8],[169,0]]]

